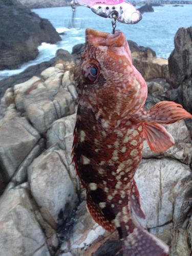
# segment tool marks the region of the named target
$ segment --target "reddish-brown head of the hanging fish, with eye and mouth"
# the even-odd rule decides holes
[[[86,30],[86,45],[76,71],[79,101],[114,122],[138,111],[145,100],[124,34]],[[140,74],[140,73],[139,73]],[[137,110],[136,103],[140,102]]]

